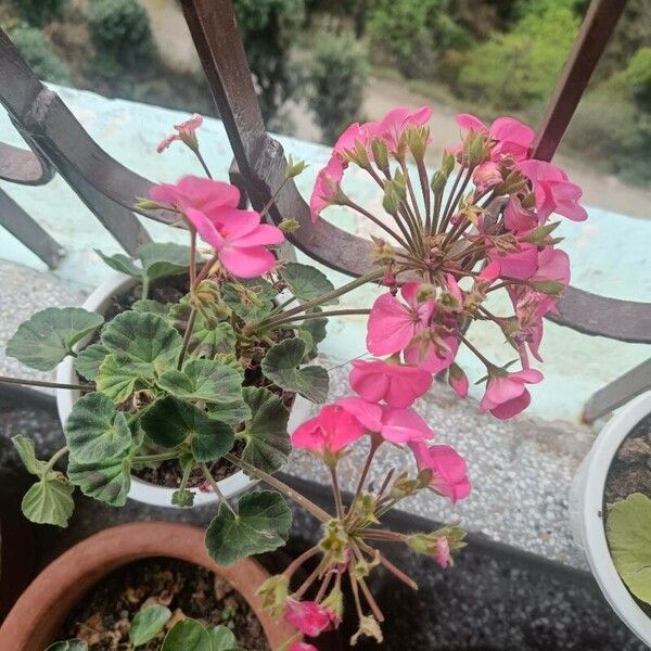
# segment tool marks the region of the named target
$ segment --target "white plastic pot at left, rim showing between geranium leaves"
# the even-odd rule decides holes
[[[116,272],[106,282],[101,284],[90,296],[84,302],[85,309],[104,314],[111,305],[112,296],[119,296],[128,292],[138,283],[138,279],[124,273]],[[84,346],[87,342],[80,342]],[[56,382],[62,384],[76,384],[79,378],[73,366],[73,358],[66,357],[56,368]],[[68,416],[73,409],[73,405],[79,399],[80,392],[71,390],[56,390],[56,408],[59,411],[59,420],[62,425],[65,425]],[[311,403],[299,395],[296,395],[292,409],[290,411],[289,431],[293,432],[303,421],[309,418]],[[219,490],[226,498],[231,498],[240,493],[243,493],[251,486],[257,483],[257,480],[250,478],[244,472],[239,471],[232,475],[217,482]],[[218,497],[213,493],[205,493],[197,489],[192,489],[194,493],[194,506],[201,507],[218,501]],[[177,508],[171,503],[171,495],[175,488],[166,486],[157,486],[143,482],[131,475],[131,487],[128,497],[139,502],[152,505],[154,507]]]

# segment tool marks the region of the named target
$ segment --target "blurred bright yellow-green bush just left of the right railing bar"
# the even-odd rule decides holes
[[[547,100],[578,26],[578,17],[556,3],[540,15],[527,14],[511,31],[495,34],[471,53],[457,90],[498,110],[520,110]]]

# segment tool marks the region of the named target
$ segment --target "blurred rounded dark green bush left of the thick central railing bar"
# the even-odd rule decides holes
[[[154,60],[149,15],[136,0],[91,0],[88,29],[97,50],[95,66],[106,76],[140,71]]]

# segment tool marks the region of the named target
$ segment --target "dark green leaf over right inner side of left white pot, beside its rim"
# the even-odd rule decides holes
[[[238,434],[246,442],[242,459],[265,472],[276,472],[292,451],[288,434],[290,412],[282,400],[267,388],[247,386],[244,400],[251,409],[251,420]]]

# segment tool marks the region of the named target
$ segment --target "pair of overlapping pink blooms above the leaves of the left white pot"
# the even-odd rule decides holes
[[[150,196],[181,213],[233,276],[257,278],[276,267],[266,247],[281,244],[284,234],[276,226],[260,224],[258,213],[240,209],[240,191],[234,186],[187,176],[175,184],[154,186]]]

